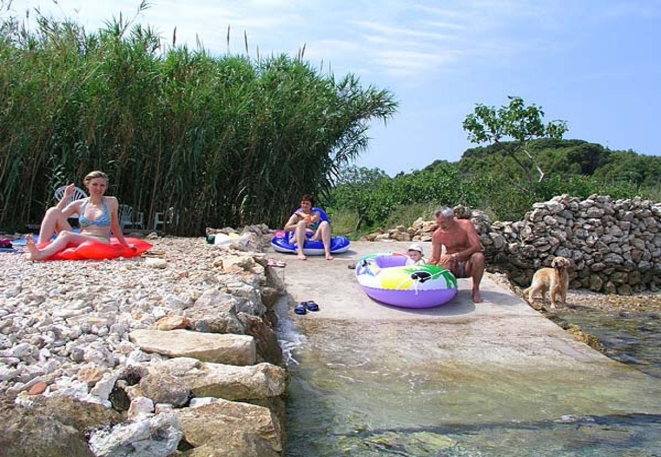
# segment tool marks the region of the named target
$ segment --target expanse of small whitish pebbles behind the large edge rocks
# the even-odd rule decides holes
[[[0,255],[0,392],[15,395],[38,380],[75,379],[91,366],[113,369],[159,357],[128,334],[159,318],[185,314],[217,287],[224,255],[204,238],[153,238],[144,257],[30,262]],[[215,264],[215,265],[214,265]],[[222,281],[241,279],[223,275]],[[36,381],[37,380],[37,381]]]

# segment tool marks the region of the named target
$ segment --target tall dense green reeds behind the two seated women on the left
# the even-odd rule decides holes
[[[177,234],[282,225],[397,108],[300,53],[214,57],[121,17],[94,33],[37,20],[0,27],[0,227],[39,221],[55,188],[94,169],[147,221],[175,208]]]

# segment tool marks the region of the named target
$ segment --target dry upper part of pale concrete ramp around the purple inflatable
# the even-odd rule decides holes
[[[392,326],[414,328],[420,324],[440,326],[438,334],[452,335],[444,338],[444,351],[438,356],[475,357],[497,360],[525,360],[526,355],[553,353],[563,359],[609,360],[601,353],[576,341],[559,326],[533,310],[524,300],[485,276],[481,284],[484,302],[474,303],[471,298],[471,279],[459,279],[459,292],[441,306],[426,309],[401,308],[382,304],[364,293],[354,264],[361,256],[373,252],[405,252],[409,243],[405,242],[353,242],[351,250],[335,256],[334,260],[309,256],[300,261],[295,256],[277,254],[286,262],[284,275],[290,304],[295,306],[303,300],[315,300],[321,310],[309,312],[305,316],[293,314],[303,330],[314,330],[319,326],[332,326],[339,320],[343,326],[373,327]],[[425,246],[427,252],[431,246]],[[410,321],[421,321],[411,324]],[[436,334],[437,332],[432,332]],[[397,331],[393,330],[395,337]],[[430,334],[430,339],[435,339]],[[419,335],[426,339],[425,335]],[[424,341],[420,341],[421,343]],[[478,345],[479,343],[479,345]],[[445,353],[445,354],[444,354]],[[566,363],[566,360],[563,361]]]

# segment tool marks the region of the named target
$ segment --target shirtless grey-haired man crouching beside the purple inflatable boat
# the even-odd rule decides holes
[[[457,278],[473,278],[473,302],[482,302],[480,281],[485,272],[485,255],[479,236],[468,219],[455,219],[454,211],[441,207],[436,211],[438,229],[432,235],[432,258],[429,263],[446,267]],[[441,255],[441,246],[446,254]]]

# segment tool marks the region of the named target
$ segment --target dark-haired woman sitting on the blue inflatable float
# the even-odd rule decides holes
[[[321,221],[319,211],[312,211],[315,205],[315,199],[311,195],[301,197],[301,209],[292,214],[287,221],[284,231],[293,232],[292,244],[296,245],[296,254],[299,260],[307,260],[303,254],[303,244],[306,239],[317,241],[321,240],[324,244],[326,260],[332,260],[331,256],[331,225],[328,221]],[[306,234],[312,233],[312,238],[307,238]]]

